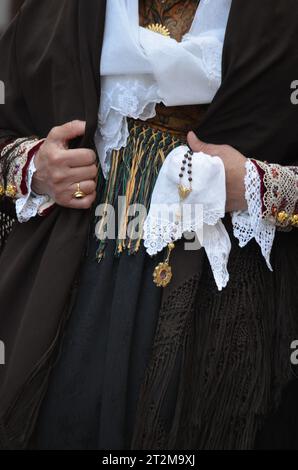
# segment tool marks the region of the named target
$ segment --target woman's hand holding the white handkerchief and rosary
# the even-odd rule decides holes
[[[206,144],[197,138],[194,132],[187,136],[188,145],[194,152],[204,152],[212,157],[220,157],[226,171],[227,204],[226,211],[242,211],[247,209],[245,199],[246,174],[245,163],[247,159],[238,150],[229,145]]]

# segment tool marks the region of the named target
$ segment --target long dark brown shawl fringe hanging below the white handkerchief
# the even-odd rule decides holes
[[[184,282],[162,305],[132,449],[252,449],[278,407],[297,333],[289,276],[270,273],[256,244],[234,246],[229,269],[223,292],[206,263],[200,280]]]

